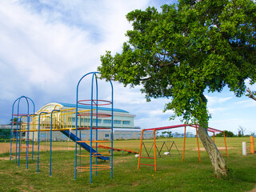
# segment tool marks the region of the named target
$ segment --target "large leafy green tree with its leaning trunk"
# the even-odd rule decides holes
[[[226,176],[224,158],[207,134],[208,92],[225,86],[237,97],[245,94],[245,80],[256,80],[256,6],[253,0],[180,0],[134,10],[126,15],[133,30],[122,53],[102,56],[102,78],[131,87],[142,85],[146,99],[170,98],[186,123],[198,123],[198,134],[216,176]]]

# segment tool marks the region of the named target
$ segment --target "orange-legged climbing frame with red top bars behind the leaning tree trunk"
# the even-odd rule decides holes
[[[158,128],[150,128],[150,129],[144,129],[142,130],[142,136],[141,136],[141,144],[140,144],[140,150],[139,150],[139,156],[138,156],[138,169],[140,167],[140,165],[144,165],[144,166],[154,166],[154,170],[157,171],[157,146],[156,146],[156,141],[155,141],[155,131],[156,130],[168,130],[168,129],[174,129],[174,128],[180,128],[180,127],[184,127],[184,144],[183,144],[183,155],[182,155],[182,161],[184,162],[184,158],[185,158],[185,144],[186,144],[186,126],[190,126],[190,127],[194,127],[196,130],[196,136],[197,136],[197,143],[198,143],[198,158],[199,158],[199,163],[201,163],[201,157],[200,157],[200,150],[199,150],[199,142],[198,142],[198,125],[187,125],[187,124],[182,124],[182,125],[177,125],[177,126],[163,126],[163,127],[158,127]],[[143,157],[142,156],[142,144],[143,144],[143,133],[144,131],[147,130],[153,130],[154,133],[154,158],[150,157],[150,155],[147,153],[148,157]],[[208,131],[214,133],[214,141],[215,141],[215,132],[222,132],[223,136],[224,136],[224,142],[225,142],[225,150],[226,150],[226,155],[227,157],[229,157],[228,155],[228,151],[227,151],[227,147],[226,147],[226,137],[225,137],[225,133],[222,130],[216,130],[214,128],[210,128],[208,127]],[[146,147],[145,147],[146,149]],[[145,163],[141,163],[141,158],[150,158],[150,159],[154,159],[154,164],[145,164]]]

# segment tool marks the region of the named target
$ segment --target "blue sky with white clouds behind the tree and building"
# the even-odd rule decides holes
[[[121,52],[131,10],[158,10],[167,0],[2,0],[0,1],[0,124],[10,123],[13,102],[22,95],[34,100],[36,110],[49,102],[75,103],[76,87],[84,74],[96,71],[100,56]],[[102,99],[109,87],[101,83]],[[247,86],[256,90],[256,86]],[[82,82],[81,99],[89,99],[90,80]],[[164,98],[146,102],[142,87],[114,82],[114,108],[135,114],[134,125],[142,129],[182,124],[163,113]],[[87,94],[86,94],[87,93]],[[238,134],[256,133],[256,102],[222,93],[205,93],[212,114],[209,126]],[[22,110],[22,109],[21,109]],[[182,133],[182,130],[174,130]],[[194,130],[188,130],[193,132]]]

